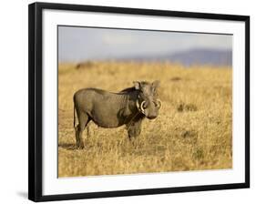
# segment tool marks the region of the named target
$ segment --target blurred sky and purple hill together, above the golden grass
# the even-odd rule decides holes
[[[58,26],[59,63],[87,60],[169,61],[231,66],[232,36]]]

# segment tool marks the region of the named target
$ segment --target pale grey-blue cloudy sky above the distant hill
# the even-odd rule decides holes
[[[196,48],[231,49],[232,36],[58,26],[59,62],[171,55]]]

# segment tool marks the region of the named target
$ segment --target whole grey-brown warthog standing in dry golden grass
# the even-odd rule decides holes
[[[141,122],[147,117],[154,119],[159,115],[161,102],[157,98],[159,81],[133,82],[118,93],[97,88],[84,88],[74,95],[74,128],[77,148],[84,148],[82,134],[90,120],[102,128],[118,128],[126,125],[128,138],[140,134]],[[76,110],[79,124],[76,127]]]

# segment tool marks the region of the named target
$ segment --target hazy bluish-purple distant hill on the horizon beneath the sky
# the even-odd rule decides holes
[[[175,54],[163,54],[159,56],[128,56],[123,60],[136,61],[160,61],[180,63],[184,66],[190,65],[212,65],[212,66],[232,66],[232,51],[217,49],[191,49],[189,51]]]

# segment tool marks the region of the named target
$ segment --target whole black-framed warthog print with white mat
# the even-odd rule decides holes
[[[29,5],[29,199],[249,188],[249,75],[249,16]]]

